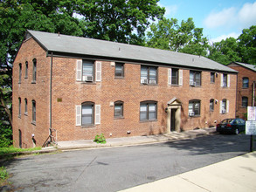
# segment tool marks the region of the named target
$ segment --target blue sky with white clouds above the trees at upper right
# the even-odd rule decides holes
[[[256,25],[255,0],[160,0],[165,17],[180,24],[189,17],[211,42],[238,38],[243,29]]]

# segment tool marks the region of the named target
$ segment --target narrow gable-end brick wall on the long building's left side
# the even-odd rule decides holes
[[[37,59],[37,81],[32,84],[32,60]],[[24,79],[25,62],[28,62],[28,78]],[[21,83],[18,84],[19,64],[22,64]],[[42,146],[48,136],[49,129],[49,77],[50,58],[45,51],[32,39],[21,45],[13,64],[13,139],[18,147],[18,129],[22,132],[23,147],[33,147],[31,134],[35,134],[37,146]],[[18,117],[18,98],[21,98],[21,117]],[[28,113],[24,114],[24,99],[28,100]],[[36,101],[36,125],[32,124],[32,100]]]

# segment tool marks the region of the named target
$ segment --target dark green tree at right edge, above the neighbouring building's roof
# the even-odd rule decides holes
[[[256,65],[256,25],[244,29],[238,38],[239,57],[243,63]]]

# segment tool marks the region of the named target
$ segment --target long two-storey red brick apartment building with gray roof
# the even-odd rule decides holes
[[[27,31],[13,63],[13,138],[163,134],[235,117],[237,72],[208,58]],[[33,138],[33,140],[32,140]]]

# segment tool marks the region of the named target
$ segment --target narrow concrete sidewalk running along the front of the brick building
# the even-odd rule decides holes
[[[176,141],[184,139],[192,139],[206,134],[213,134],[216,128],[203,128],[197,130],[190,130],[184,132],[172,132],[170,134],[157,134],[149,136],[132,136],[122,138],[107,139],[106,144],[98,144],[93,140],[80,140],[80,141],[59,141],[57,147],[61,150],[78,149],[78,148],[93,148],[93,147],[121,147],[132,146],[140,144],[149,144],[156,142]]]

